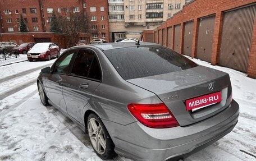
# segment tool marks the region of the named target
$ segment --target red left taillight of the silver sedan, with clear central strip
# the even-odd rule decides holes
[[[140,123],[152,128],[179,126],[165,104],[129,104],[127,108]]]

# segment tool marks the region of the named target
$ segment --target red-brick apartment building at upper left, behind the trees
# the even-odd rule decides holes
[[[56,15],[86,13],[90,22],[91,39],[103,38],[109,41],[108,2],[104,0],[0,0],[0,11],[1,33],[19,33],[20,15],[24,18],[29,32],[40,33],[50,31],[53,12]]]

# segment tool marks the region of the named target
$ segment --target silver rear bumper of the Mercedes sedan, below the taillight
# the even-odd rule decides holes
[[[135,160],[160,161],[186,158],[211,145],[232,131],[238,117],[239,105],[232,100],[224,111],[186,127],[154,129],[139,122],[127,126],[103,122],[116,145],[116,153]]]

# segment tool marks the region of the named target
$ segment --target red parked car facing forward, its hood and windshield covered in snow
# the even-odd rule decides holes
[[[54,43],[37,43],[28,52],[29,61],[33,60],[51,60],[52,57],[59,57],[59,47]]]

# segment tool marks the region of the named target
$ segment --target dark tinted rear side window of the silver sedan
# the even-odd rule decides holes
[[[71,73],[77,76],[100,80],[100,68],[95,54],[89,50],[79,50]]]

